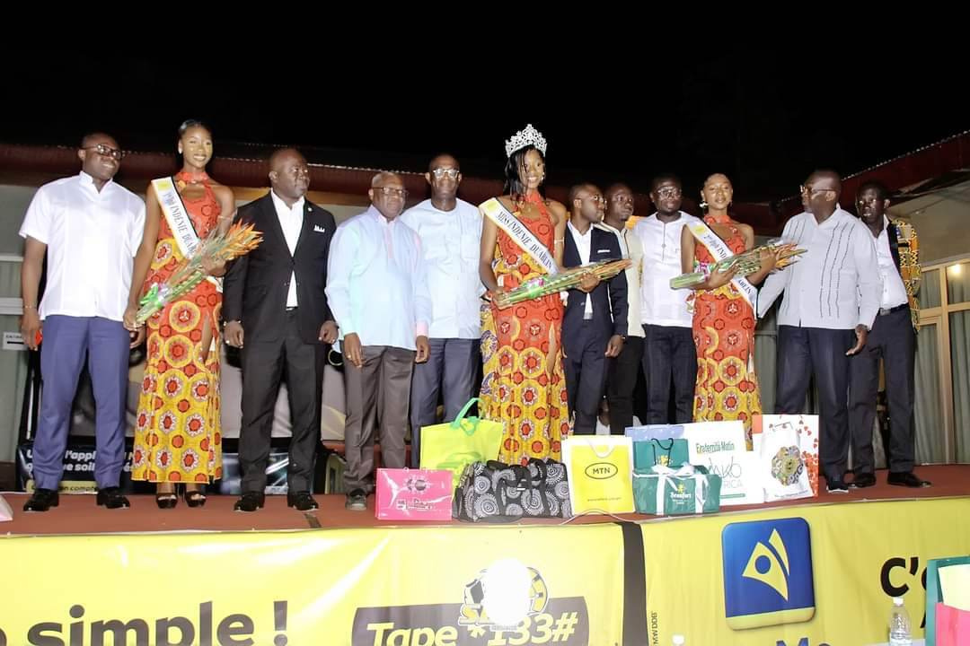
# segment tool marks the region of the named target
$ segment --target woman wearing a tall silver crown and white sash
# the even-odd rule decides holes
[[[566,207],[539,192],[545,151],[546,140],[532,124],[506,141],[505,195],[480,206],[479,273],[489,298],[562,268]],[[562,323],[557,293],[503,310],[494,303],[482,308],[480,414],[505,426],[502,462],[560,458],[569,434]]]

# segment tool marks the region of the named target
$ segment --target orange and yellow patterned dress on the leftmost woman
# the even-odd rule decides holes
[[[182,173],[177,183],[187,181]],[[209,178],[204,194],[185,210],[200,239],[219,221],[219,202]],[[182,255],[168,221],[158,243],[145,290],[172,275]],[[219,311],[222,294],[209,280],[165,306],[148,322],[145,379],[138,404],[132,478],[150,482],[207,483],[222,477],[219,430]],[[206,329],[211,342],[203,347]]]

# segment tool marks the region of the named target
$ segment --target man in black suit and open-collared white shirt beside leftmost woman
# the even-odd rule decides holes
[[[222,317],[230,346],[242,348],[242,497],[238,511],[263,507],[273,411],[281,379],[293,437],[286,480],[289,507],[317,508],[309,495],[320,435],[326,346],[337,340],[327,295],[334,216],[306,198],[307,160],[292,148],[270,158],[269,195],[239,209],[238,220],[263,242],[226,273]],[[244,344],[243,344],[244,340]]]

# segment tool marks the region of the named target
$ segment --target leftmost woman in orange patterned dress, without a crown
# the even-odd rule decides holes
[[[213,229],[229,229],[235,211],[232,191],[212,181],[210,130],[198,121],[178,129],[182,169],[175,189],[200,240]],[[164,193],[164,189],[163,189]],[[154,284],[172,275],[183,252],[154,185],[146,200],[145,235],[135,257],[125,325],[138,329],[139,300]],[[167,304],[147,321],[147,363],[135,428],[132,479],[155,482],[159,508],[178,503],[176,485],[185,485],[185,502],[201,507],[204,486],[222,476],[219,432],[219,310],[224,263],[207,264],[210,276],[191,292]],[[142,327],[144,330],[144,327]]]

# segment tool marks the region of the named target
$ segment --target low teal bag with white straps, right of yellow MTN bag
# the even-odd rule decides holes
[[[633,500],[637,513],[713,513],[721,509],[721,477],[689,464],[676,470],[662,465],[637,470]]]

